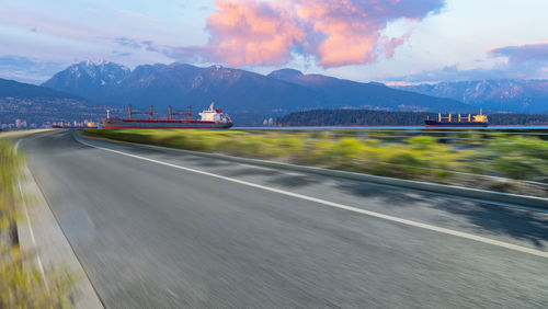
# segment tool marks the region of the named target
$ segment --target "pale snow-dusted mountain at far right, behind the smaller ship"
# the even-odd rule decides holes
[[[548,114],[548,80],[459,81],[395,89],[450,98],[483,108]]]

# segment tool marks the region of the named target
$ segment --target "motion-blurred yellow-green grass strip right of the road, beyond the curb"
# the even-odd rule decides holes
[[[84,134],[442,183],[453,181],[457,173],[463,172],[513,180],[546,180],[548,171],[548,144],[535,137],[505,136],[483,142],[465,141],[466,148],[463,148],[431,134],[408,137],[403,141],[340,131],[87,129]],[[473,138],[478,134],[461,133],[457,137]]]

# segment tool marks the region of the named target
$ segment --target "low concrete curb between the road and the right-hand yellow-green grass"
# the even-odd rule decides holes
[[[80,141],[79,139],[81,138],[81,131],[78,131],[73,136],[78,141]],[[100,138],[94,138],[94,137],[90,137],[90,136],[85,136],[85,138],[100,139]],[[319,175],[335,176],[335,178],[342,178],[342,179],[349,179],[349,180],[357,180],[357,181],[378,183],[378,184],[385,184],[385,185],[391,185],[391,186],[427,191],[427,192],[433,192],[433,193],[443,193],[443,194],[456,195],[456,196],[463,196],[463,197],[469,197],[469,198],[477,198],[477,199],[484,199],[484,201],[506,203],[506,204],[516,204],[516,205],[521,205],[521,206],[548,209],[548,198],[536,197],[536,196],[517,195],[517,194],[501,193],[501,192],[494,192],[494,191],[478,190],[478,188],[470,188],[470,187],[456,186],[456,185],[445,185],[445,184],[437,184],[437,183],[427,183],[427,182],[411,181],[411,180],[400,180],[400,179],[377,176],[377,175],[370,175],[370,174],[362,174],[362,173],[355,173],[355,172],[329,170],[329,169],[316,168],[316,167],[296,165],[296,164],[274,162],[274,161],[267,161],[267,160],[259,160],[259,159],[239,158],[239,157],[232,157],[232,156],[227,156],[227,154],[199,152],[199,151],[153,146],[153,145],[147,145],[147,144],[121,141],[121,140],[114,140],[114,139],[104,139],[104,140],[114,141],[114,142],[118,142],[118,144],[128,144],[128,145],[134,145],[134,146],[142,147],[142,148],[155,149],[155,150],[162,150],[162,151],[171,150],[171,151],[176,151],[176,152],[181,152],[181,153],[185,153],[185,154],[192,154],[192,156],[198,156],[198,157],[205,157],[205,158],[212,158],[212,159],[219,159],[219,160],[225,160],[225,161],[232,161],[232,162],[238,162],[238,163],[243,163],[243,164],[275,168],[275,169],[283,169],[283,170],[297,171],[297,172],[306,172],[306,173],[312,173],[312,174],[319,174]]]

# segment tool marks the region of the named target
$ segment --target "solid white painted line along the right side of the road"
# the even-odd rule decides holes
[[[168,162],[163,162],[163,161],[158,161],[155,159],[150,159],[150,158],[146,158],[146,157],[137,156],[137,154],[132,154],[132,153],[127,153],[127,152],[119,151],[119,150],[99,147],[99,146],[88,144],[88,142],[81,140],[80,138],[78,138],[77,140],[79,142],[81,142],[85,146],[92,147],[92,148],[101,149],[104,151],[111,151],[114,153],[118,153],[118,154],[123,154],[123,156],[127,156],[127,157],[132,157],[132,158],[136,158],[136,159],[140,159],[140,160],[153,162],[157,164],[162,164],[162,165],[179,169],[179,170],[184,170],[184,171],[189,171],[189,172],[193,172],[193,173],[197,173],[197,174],[203,174],[203,175],[207,175],[207,176],[212,176],[212,178],[216,178],[216,179],[220,179],[220,180],[226,180],[229,182],[235,182],[235,183],[239,183],[239,184],[243,184],[243,185],[248,185],[248,186],[252,186],[252,187],[256,187],[256,188],[262,188],[265,191],[275,192],[275,193],[279,193],[283,195],[287,195],[287,196],[293,196],[293,197],[297,197],[300,199],[310,201],[310,202],[323,204],[327,206],[331,206],[334,208],[350,210],[350,211],[354,211],[354,213],[362,214],[362,215],[367,215],[367,216],[375,217],[375,218],[380,218],[380,219],[385,219],[385,220],[389,220],[389,221],[393,221],[393,222],[399,222],[399,224],[403,224],[407,226],[423,228],[426,230],[432,230],[432,231],[437,231],[441,233],[446,233],[446,234],[450,234],[450,236],[466,238],[469,240],[489,243],[489,244],[506,248],[510,250],[515,250],[515,251],[541,256],[541,258],[548,258],[548,252],[540,251],[540,250],[535,250],[535,249],[530,249],[530,248],[526,248],[526,247],[522,247],[522,245],[516,245],[513,243],[507,243],[507,242],[503,242],[503,241],[499,241],[499,240],[494,240],[494,239],[490,239],[490,238],[484,238],[481,236],[476,236],[476,234],[471,234],[471,233],[467,233],[467,232],[441,228],[441,227],[436,227],[436,226],[432,226],[432,225],[427,225],[427,224],[421,224],[421,222],[416,222],[416,221],[412,221],[412,220],[408,220],[408,219],[402,219],[402,218],[398,218],[398,217],[393,217],[393,216],[388,216],[388,215],[384,215],[384,214],[379,214],[379,213],[375,213],[375,211],[370,211],[370,210],[365,210],[365,209],[361,209],[361,208],[356,208],[353,206],[347,206],[347,205],[343,205],[343,204],[339,204],[339,203],[334,203],[334,202],[329,202],[329,201],[324,201],[324,199],[320,199],[320,198],[316,198],[316,197],[311,197],[311,196],[307,196],[307,195],[302,195],[302,194],[298,194],[298,193],[293,193],[293,192],[288,192],[288,191],[284,191],[284,190],[279,190],[279,188],[274,188],[274,187],[270,187],[270,186],[250,183],[247,181],[241,181],[241,180],[231,179],[231,178],[227,178],[227,176],[222,176],[222,175],[218,175],[218,174],[213,174],[209,172],[194,170],[194,169],[190,169],[190,168],[185,168],[185,167],[181,167],[181,165],[176,165],[176,164],[172,164],[172,163],[168,163]]]

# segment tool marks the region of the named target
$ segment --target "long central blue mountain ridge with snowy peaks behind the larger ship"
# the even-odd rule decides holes
[[[105,77],[106,76],[106,77]],[[113,78],[107,78],[112,76]],[[70,66],[43,85],[93,101],[136,106],[195,108],[216,102],[231,114],[283,115],[316,108],[471,112],[458,101],[400,91],[379,83],[358,83],[295,70],[269,76],[212,66],[145,65],[133,71],[90,61]],[[233,117],[237,118],[237,117]]]

